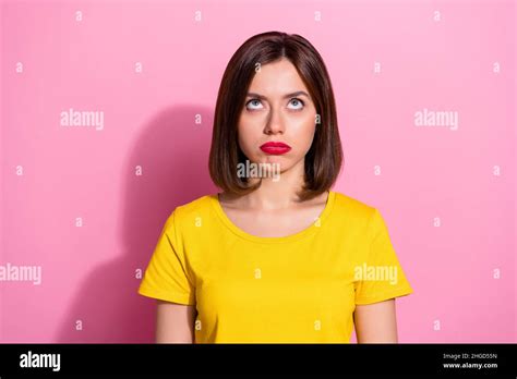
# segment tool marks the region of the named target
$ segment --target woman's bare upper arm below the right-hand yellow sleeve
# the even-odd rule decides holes
[[[357,305],[353,313],[358,343],[397,343],[395,298]]]

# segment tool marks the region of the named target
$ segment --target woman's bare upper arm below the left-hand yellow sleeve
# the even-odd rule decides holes
[[[158,301],[156,343],[194,343],[195,306]]]

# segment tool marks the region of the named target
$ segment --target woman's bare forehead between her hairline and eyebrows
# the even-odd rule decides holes
[[[281,96],[297,90],[308,91],[294,65],[287,59],[261,65],[250,84],[250,91],[264,96]]]

